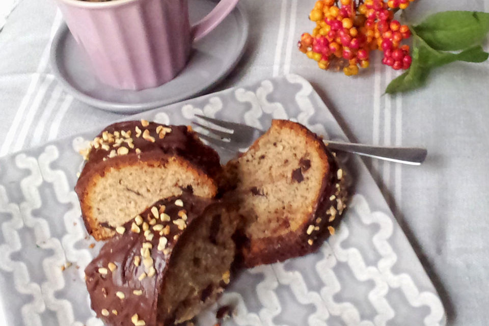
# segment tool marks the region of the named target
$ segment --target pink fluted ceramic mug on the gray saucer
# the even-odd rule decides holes
[[[95,75],[118,89],[169,82],[185,66],[192,43],[212,31],[239,0],[221,0],[196,25],[187,0],[57,0]]]

